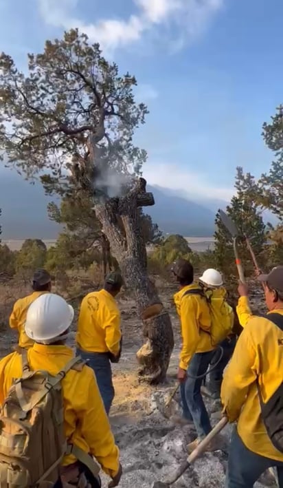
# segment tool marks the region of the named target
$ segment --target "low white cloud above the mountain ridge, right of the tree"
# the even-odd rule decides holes
[[[149,184],[181,191],[186,198],[216,198],[229,202],[235,190],[231,187],[214,186],[205,173],[194,173],[180,165],[150,162],[144,165],[143,176]]]

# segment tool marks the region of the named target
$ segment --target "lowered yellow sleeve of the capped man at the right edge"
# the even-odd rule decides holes
[[[249,332],[252,325],[253,322],[249,321],[249,325],[242,331],[223,375],[220,396],[230,422],[238,419],[249,386],[256,380],[258,354]]]

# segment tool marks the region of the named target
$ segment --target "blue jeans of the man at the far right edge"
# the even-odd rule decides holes
[[[279,487],[283,488],[283,462],[264,458],[247,449],[235,427],[229,447],[225,488],[253,488],[269,467],[277,467]]]

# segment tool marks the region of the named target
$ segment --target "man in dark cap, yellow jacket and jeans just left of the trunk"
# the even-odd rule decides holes
[[[82,300],[76,335],[78,354],[95,372],[98,388],[109,414],[114,398],[111,362],[121,354],[120,310],[115,297],[122,288],[122,276],[106,276],[102,290],[89,293]]]

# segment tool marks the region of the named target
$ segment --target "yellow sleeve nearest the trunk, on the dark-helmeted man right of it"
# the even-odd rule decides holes
[[[196,352],[199,342],[199,323],[197,321],[198,306],[194,297],[181,300],[181,335],[183,346],[180,354],[179,366],[186,370]]]

